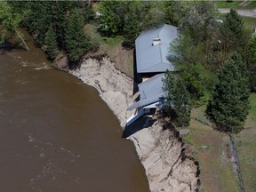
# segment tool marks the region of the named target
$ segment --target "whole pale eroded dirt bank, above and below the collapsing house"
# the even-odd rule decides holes
[[[84,59],[80,68],[70,71],[85,84],[94,86],[124,127],[132,115],[126,108],[133,101],[133,80],[115,68],[107,57]],[[134,142],[152,192],[197,191],[198,167],[184,155],[184,143],[177,132],[163,130],[156,122],[129,137]]]

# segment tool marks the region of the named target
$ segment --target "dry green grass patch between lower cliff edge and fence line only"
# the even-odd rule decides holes
[[[204,110],[205,106],[192,109],[192,119],[188,127],[190,133],[183,136],[186,143],[195,148],[192,156],[200,165],[201,187],[199,191],[238,192],[236,174],[230,162],[222,156],[223,150],[226,149],[228,135],[216,132],[206,125],[211,125],[211,123],[204,116]]]

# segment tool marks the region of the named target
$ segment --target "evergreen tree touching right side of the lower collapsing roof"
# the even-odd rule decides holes
[[[188,126],[190,121],[191,100],[185,84],[170,71],[164,75],[164,110],[169,114],[173,124]]]

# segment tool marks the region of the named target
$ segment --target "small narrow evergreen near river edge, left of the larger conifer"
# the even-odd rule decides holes
[[[44,44],[46,45],[46,53],[50,60],[54,60],[58,53],[57,36],[52,27],[49,28],[44,38]]]

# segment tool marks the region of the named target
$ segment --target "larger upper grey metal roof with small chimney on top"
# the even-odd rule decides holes
[[[162,25],[141,32],[135,41],[138,73],[164,72],[174,70],[172,63],[167,60],[170,43],[178,36],[177,28]],[[161,44],[152,45],[154,38],[160,38]]]

